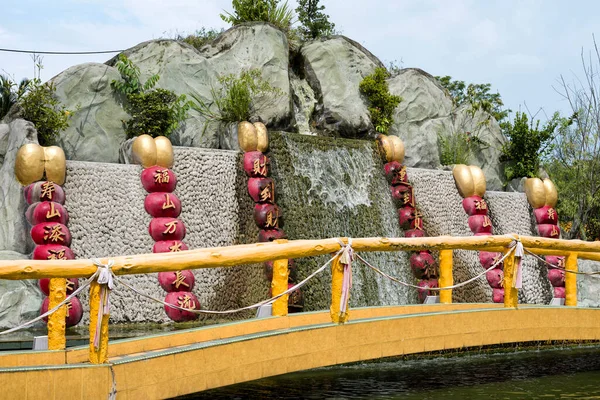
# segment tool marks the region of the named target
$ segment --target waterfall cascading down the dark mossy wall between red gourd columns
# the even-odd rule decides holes
[[[290,239],[402,236],[375,142],[290,133],[271,133],[270,139],[277,203]],[[390,275],[413,282],[406,253],[363,256]],[[328,259],[296,260],[299,278]],[[416,291],[360,262],[353,269],[352,307],[416,303]],[[328,308],[330,282],[330,274],[321,274],[305,287],[305,310]]]

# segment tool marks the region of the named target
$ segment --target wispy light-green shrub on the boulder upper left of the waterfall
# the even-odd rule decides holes
[[[262,78],[258,69],[242,71],[219,78],[221,86],[211,89],[212,102],[206,103],[193,96],[196,103],[191,107],[203,115],[207,122],[239,122],[256,117],[267,102],[283,95]]]

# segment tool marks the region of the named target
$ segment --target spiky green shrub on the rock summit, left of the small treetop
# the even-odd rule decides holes
[[[233,14],[228,11],[221,14],[221,19],[232,25],[239,25],[243,22],[264,21],[270,22],[287,32],[294,17],[287,1],[279,4],[279,0],[233,0],[232,6]]]

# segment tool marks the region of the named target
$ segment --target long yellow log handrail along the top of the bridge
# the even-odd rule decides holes
[[[537,254],[578,252],[578,257],[600,261],[600,242],[546,239],[531,236],[497,235],[423,238],[359,238],[353,239],[356,251],[416,250],[486,250],[504,251],[519,237],[523,246]],[[347,239],[342,238],[344,241]],[[182,269],[233,267],[285,258],[312,257],[340,249],[337,239],[291,240],[286,243],[255,243],[228,247],[211,247],[177,253],[139,254],[111,257],[116,275],[146,274]],[[107,262],[102,258],[102,262]],[[0,261],[0,279],[81,278],[96,271],[92,260],[11,260]]]

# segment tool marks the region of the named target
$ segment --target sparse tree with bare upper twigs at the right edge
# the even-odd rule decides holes
[[[598,238],[600,226],[600,52],[581,51],[584,79],[568,83],[564,76],[555,90],[567,100],[573,115],[556,137],[553,160],[546,169],[557,186],[561,218],[572,223],[568,238]]]

